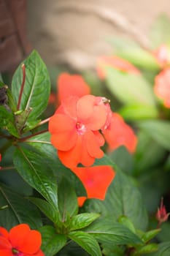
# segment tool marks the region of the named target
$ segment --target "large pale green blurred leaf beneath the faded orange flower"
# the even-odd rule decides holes
[[[142,75],[120,72],[107,67],[107,87],[120,102],[126,105],[146,105],[155,107],[152,87]]]

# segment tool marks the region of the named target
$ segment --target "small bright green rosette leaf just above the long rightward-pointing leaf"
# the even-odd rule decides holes
[[[86,214],[86,213],[78,214],[72,217],[69,224],[69,230],[72,231],[72,230],[78,230],[82,227],[87,227],[99,216],[100,216],[99,214]]]

